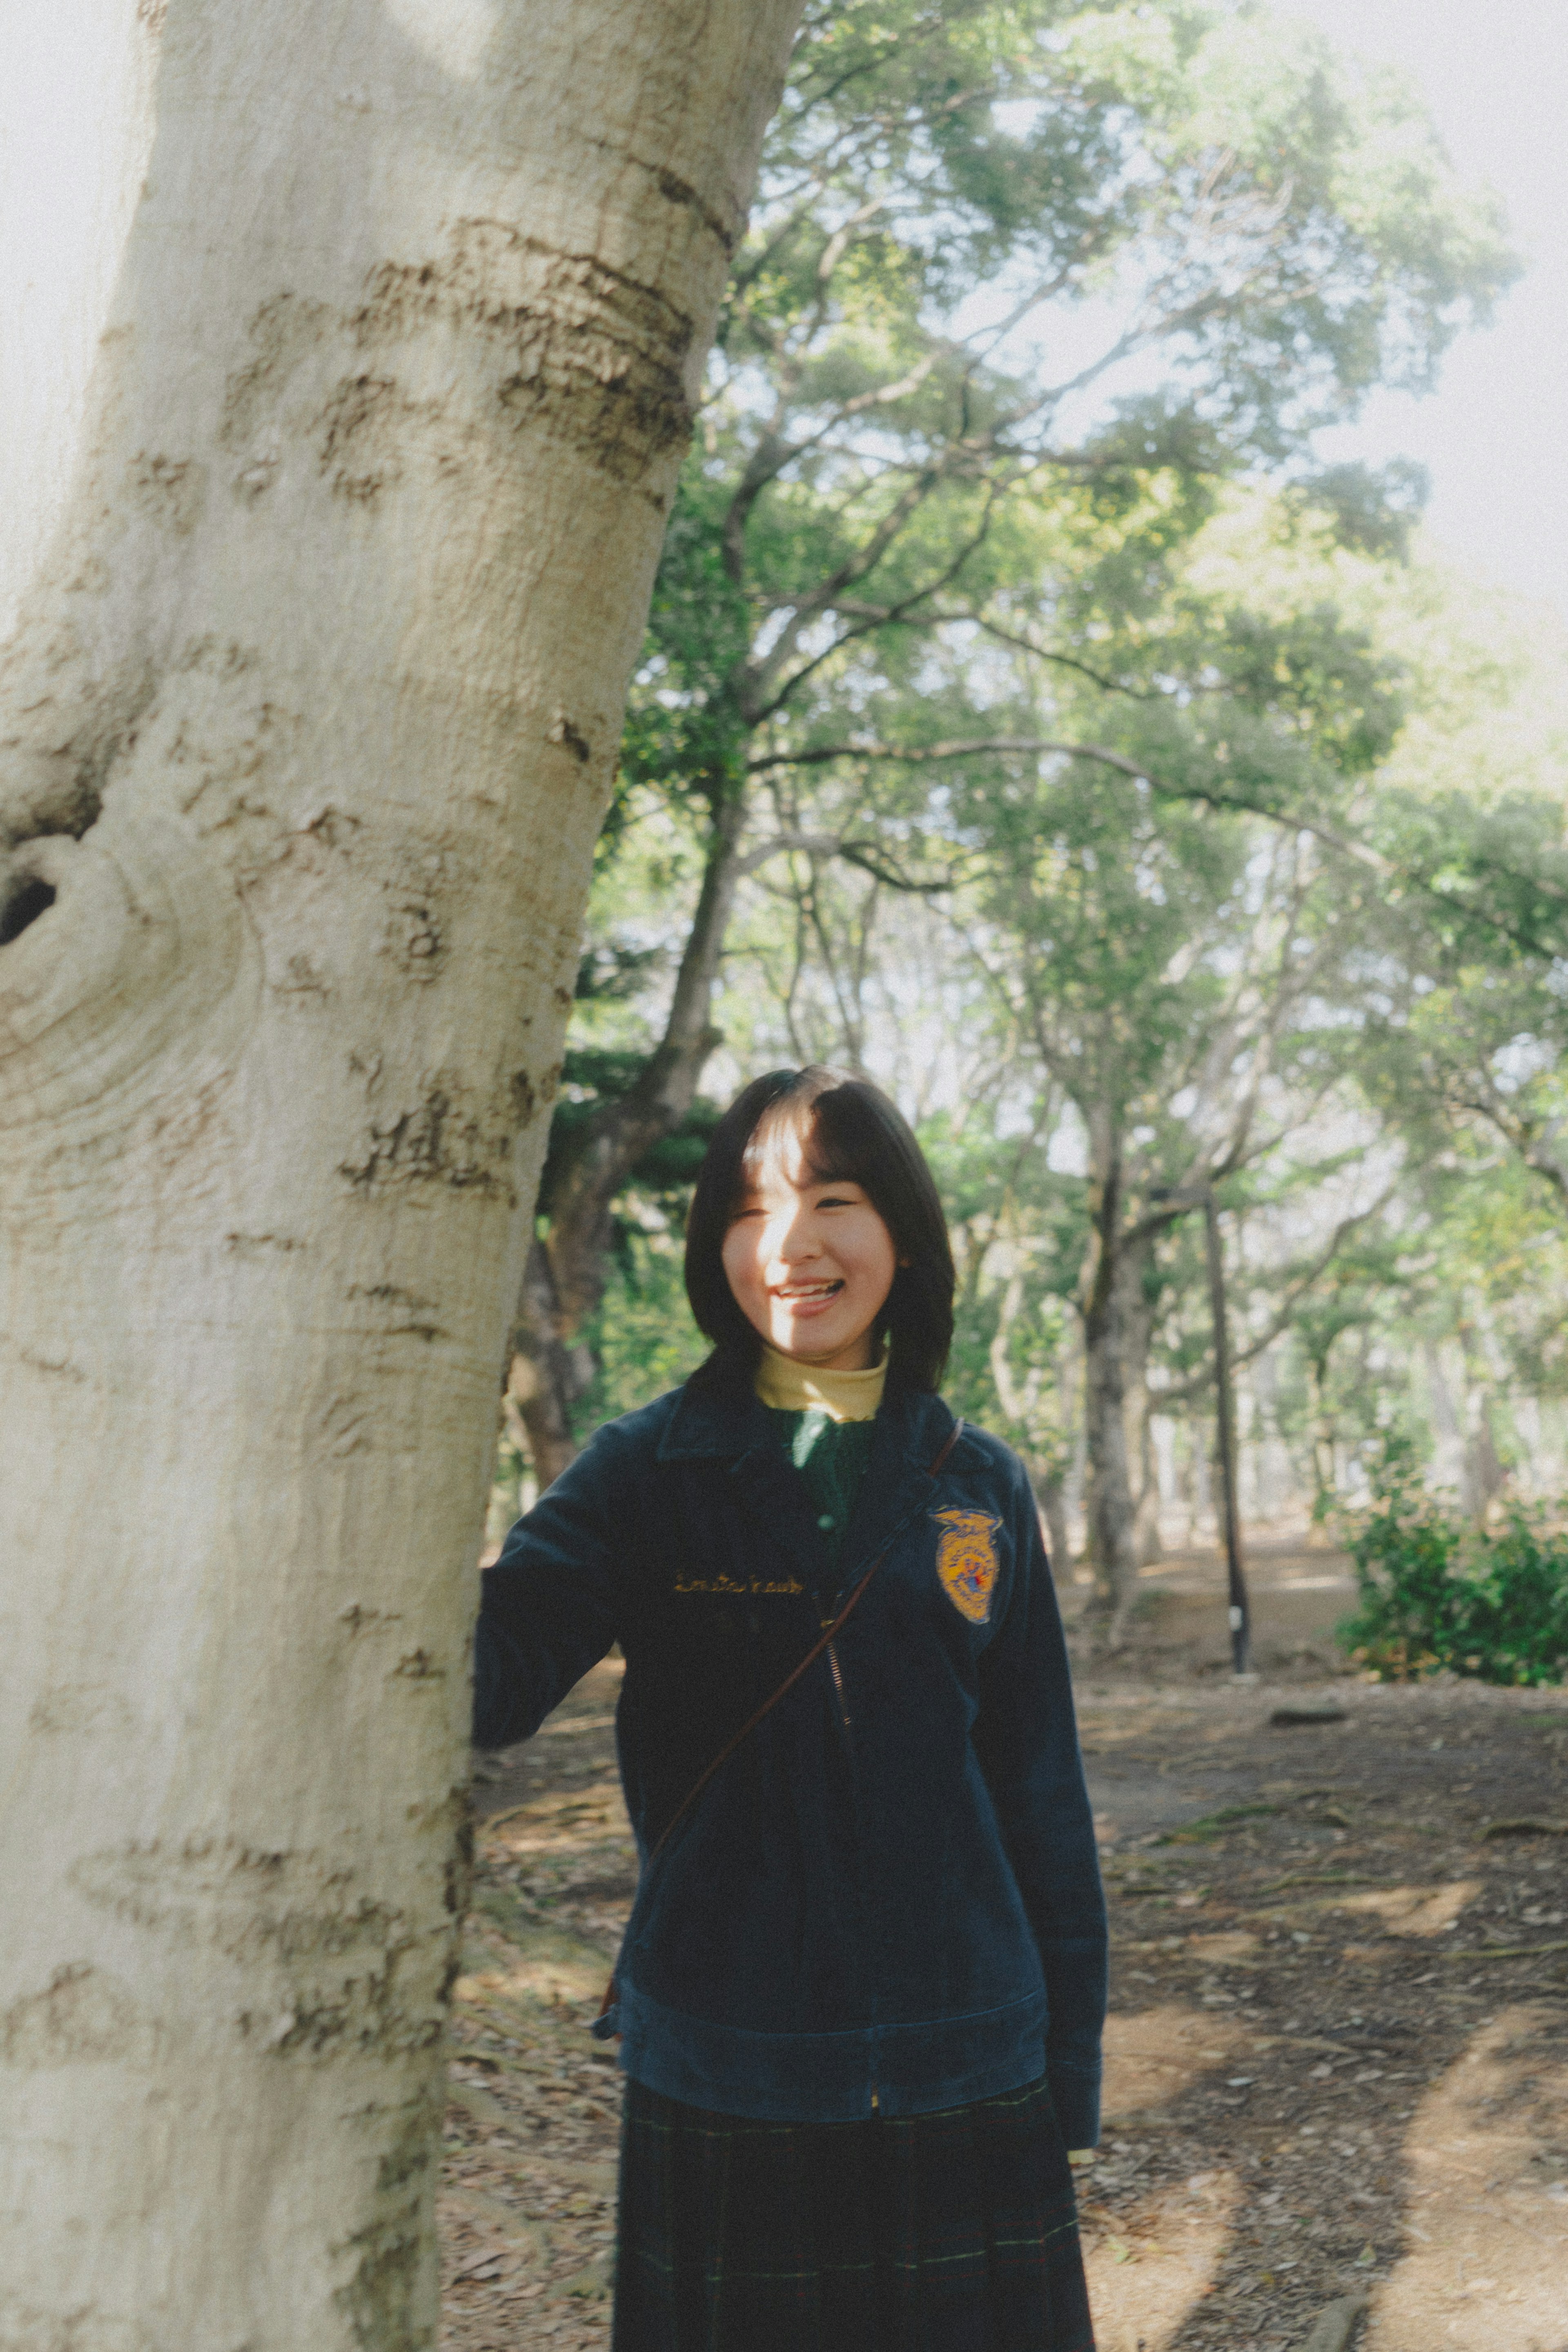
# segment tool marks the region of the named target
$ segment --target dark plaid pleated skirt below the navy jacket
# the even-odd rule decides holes
[[[1044,2082],[865,2124],[628,2082],[614,2352],[1093,2352]]]

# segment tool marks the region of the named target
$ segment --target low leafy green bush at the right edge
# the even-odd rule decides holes
[[[1349,1555],[1361,1606],[1338,1632],[1373,1675],[1563,1679],[1568,1534],[1549,1512],[1514,1505],[1502,1526],[1474,1526],[1427,1494],[1410,1439],[1387,1437],[1373,1503],[1349,1517]]]

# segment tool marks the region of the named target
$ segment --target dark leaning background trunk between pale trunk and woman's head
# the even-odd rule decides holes
[[[658,1049],[637,1084],[588,1122],[571,1160],[541,1202],[548,1230],[534,1242],[512,1324],[510,1388],[529,1432],[541,1489],[576,1456],[571,1411],[592,1381],[581,1329],[604,1298],[616,1195],[644,1152],[691,1110],[703,1065],[719,1044],[712,990],[741,882],[745,802],[715,786],[703,889],[675,978]]]

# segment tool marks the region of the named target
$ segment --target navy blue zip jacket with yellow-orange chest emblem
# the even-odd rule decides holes
[[[611,1421],[484,1573],[475,1738],[529,1738],[611,1642],[642,1856],[891,1538],[856,1613],[644,1867],[604,2030],[668,2098],[849,2122],[1044,2072],[1098,2138],[1105,1898],[1018,1458],[889,1395],[839,1569],[755,1397]],[[837,1663],[837,1682],[835,1682]]]

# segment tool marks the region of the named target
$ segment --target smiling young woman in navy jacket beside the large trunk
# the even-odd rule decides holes
[[[1093,1823],[1027,1477],[936,1395],[893,1105],[750,1084],[686,1289],[712,1355],[517,1522],[477,1639],[489,1748],[625,1653],[616,2352],[1091,2352]]]

